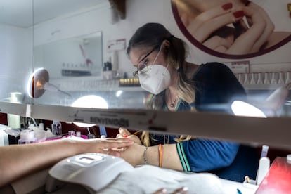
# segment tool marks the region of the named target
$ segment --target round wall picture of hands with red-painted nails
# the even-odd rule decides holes
[[[290,32],[275,32],[275,25],[268,13],[253,1],[172,2],[179,15],[176,17],[177,22],[181,21],[195,41],[219,53],[257,53],[290,36]]]

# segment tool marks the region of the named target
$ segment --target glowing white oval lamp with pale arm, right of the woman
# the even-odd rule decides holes
[[[280,86],[262,103],[233,101],[231,104],[231,110],[237,116],[274,117],[276,116],[276,112],[285,102],[290,88],[291,83],[288,83],[285,86]]]

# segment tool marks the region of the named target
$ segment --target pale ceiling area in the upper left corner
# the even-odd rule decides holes
[[[60,15],[77,12],[108,0],[0,0],[0,23],[31,27]]]

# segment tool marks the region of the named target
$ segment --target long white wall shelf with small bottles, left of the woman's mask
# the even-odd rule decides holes
[[[69,77],[51,79],[50,83],[62,91],[143,91],[138,78]]]

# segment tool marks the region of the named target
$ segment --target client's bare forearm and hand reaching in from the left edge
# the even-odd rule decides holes
[[[43,143],[0,147],[0,186],[56,162],[81,153],[107,153],[104,148],[122,148],[133,142],[126,138],[113,140],[56,140]],[[115,154],[115,152],[111,152]]]

